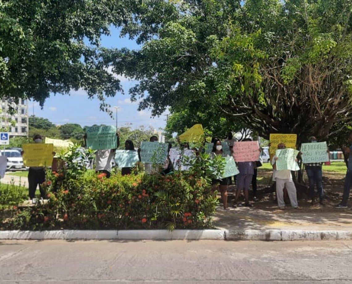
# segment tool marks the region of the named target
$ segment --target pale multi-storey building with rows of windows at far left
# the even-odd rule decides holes
[[[28,136],[28,100],[19,99],[12,106],[17,109],[17,113],[13,115],[8,112],[8,101],[1,100],[0,128],[6,128],[10,137]]]

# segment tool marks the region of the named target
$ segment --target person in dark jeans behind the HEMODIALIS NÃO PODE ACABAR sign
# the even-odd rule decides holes
[[[309,138],[311,143],[316,143],[316,138],[314,136]],[[300,153],[301,154],[301,153]],[[310,198],[312,199],[311,203],[315,204],[315,190],[314,187],[316,185],[316,189],[319,194],[319,203],[324,205],[324,191],[322,186],[322,164],[323,163],[307,163],[304,164],[304,167],[307,171],[308,181],[309,181],[309,193]]]

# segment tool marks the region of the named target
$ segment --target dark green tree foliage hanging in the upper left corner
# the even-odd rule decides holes
[[[104,97],[120,84],[103,63],[100,37],[127,23],[130,2],[0,0],[0,98],[28,97],[43,106],[51,92],[81,88],[107,111]]]

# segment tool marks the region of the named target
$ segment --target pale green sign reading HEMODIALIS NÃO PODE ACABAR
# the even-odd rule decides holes
[[[328,162],[329,154],[327,150],[326,142],[302,143],[302,161],[304,164]]]

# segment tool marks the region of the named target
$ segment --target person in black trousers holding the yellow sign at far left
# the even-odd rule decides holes
[[[42,136],[39,134],[34,135],[34,143],[42,143]],[[21,152],[21,155],[24,151]],[[53,152],[55,155],[55,152]],[[45,189],[42,187],[42,183],[45,182],[45,168],[44,167],[29,167],[28,171],[28,191],[29,198],[33,200],[36,197],[37,186],[39,185],[40,197],[46,199]]]

